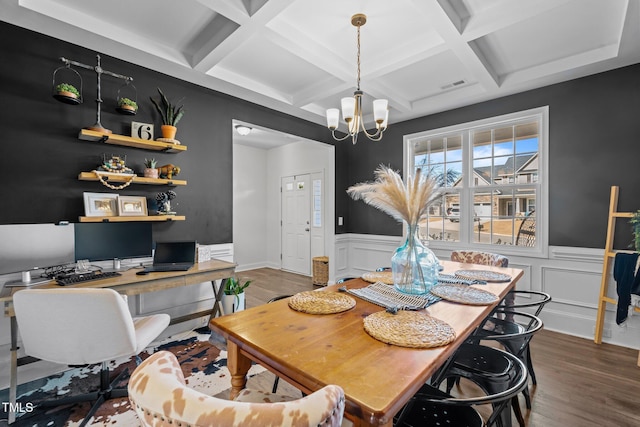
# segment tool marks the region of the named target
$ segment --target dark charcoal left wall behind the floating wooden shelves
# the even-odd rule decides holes
[[[127,165],[139,172],[145,158],[158,165],[172,163],[182,169],[178,179],[187,186],[173,187],[173,201],[186,221],[154,224],[156,240],[196,239],[214,244],[232,241],[232,119],[329,141],[326,128],[241,99],[101,54],[106,70],[133,77],[140,111],[135,116],[115,111],[118,89],[124,83],[102,76],[101,123],[114,133],[130,135],[131,121],[160,120],[149,100],[156,88],[174,101],[184,97],[186,114],[176,138],[188,149],[179,154],[81,141],[78,133],[96,122],[96,73],[78,69],[83,81],[84,103],[72,106],[52,97],[53,72],[60,57],[88,65],[96,53],[36,32],[0,23],[0,171],[3,178],[0,224],[77,222],[84,215],[83,192],[117,192],[155,200],[169,187],[131,185],[113,191],[99,182],[78,181],[78,174],[100,164],[103,153],[126,155]],[[130,92],[123,92],[130,93]]]

